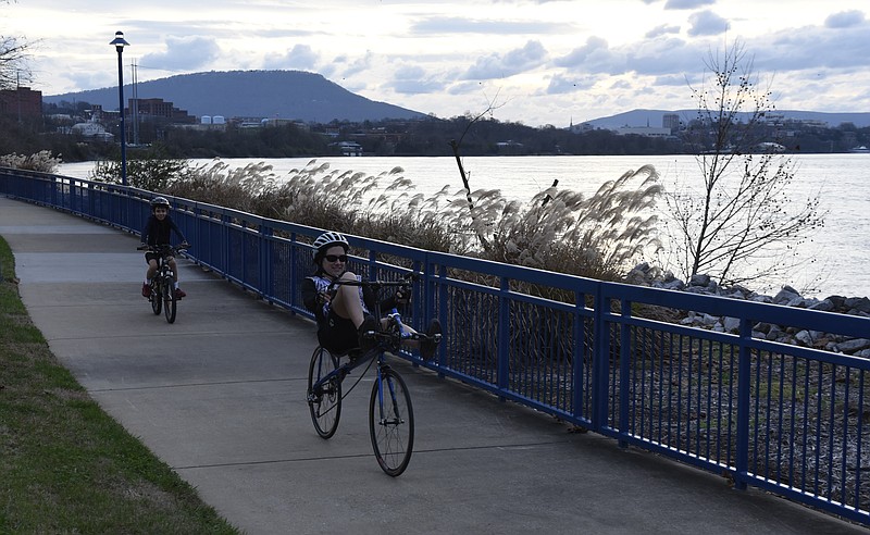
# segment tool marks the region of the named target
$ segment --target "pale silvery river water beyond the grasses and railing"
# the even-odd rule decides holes
[[[830,295],[846,297],[870,296],[870,154],[797,154],[795,177],[788,197],[803,202],[819,194],[820,211],[826,211],[825,225],[810,240],[798,246],[797,260],[803,261],[790,272],[787,281],[767,281],[748,284],[765,293],[775,293],[790,284],[805,297],[823,298]],[[225,159],[231,167],[265,162],[279,179],[304,167],[310,158],[287,159]],[[449,186],[451,191],[462,186],[456,159],[436,158],[318,158],[331,170],[355,171],[378,175],[401,167],[415,190],[426,196]],[[194,165],[211,160],[191,160]],[[630,170],[651,164],[661,176],[666,189],[699,184],[699,170],[692,155],[655,157],[469,157],[462,165],[469,174],[472,189],[500,189],[508,198],[525,200],[549,187],[554,181],[560,188],[585,195],[594,194],[606,181],[619,178]],[[88,178],[92,162],[62,164],[59,174]],[[391,179],[384,181],[383,186]],[[696,187],[697,188],[697,187]],[[661,203],[663,207],[663,202]],[[667,216],[667,215],[663,215]],[[674,270],[675,271],[675,270]],[[759,287],[760,286],[760,287]]]

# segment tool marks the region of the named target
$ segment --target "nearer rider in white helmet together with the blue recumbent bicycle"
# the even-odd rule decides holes
[[[396,353],[403,346],[417,346],[423,359],[432,359],[440,341],[440,324],[434,320],[425,334],[405,325],[397,307],[409,301],[410,279],[362,281],[347,272],[348,244],[340,234],[324,233],[314,241],[314,250],[318,270],[306,278],[302,288],[306,306],[318,320],[321,344],[311,357],[308,373],[311,420],[321,437],[332,437],[338,428],[346,395],[341,393],[341,382],[353,369],[374,363],[375,381],[369,402],[372,449],[381,469],[397,476],[408,466],[413,450],[413,408],[405,381],[386,364],[384,356]],[[398,288],[396,294],[381,300],[380,290],[389,286]],[[382,309],[389,313],[382,318]],[[345,354],[349,361],[339,364]]]

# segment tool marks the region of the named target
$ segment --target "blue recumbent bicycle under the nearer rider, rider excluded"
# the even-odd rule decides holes
[[[337,281],[334,284],[349,286],[370,286],[380,294],[384,287],[405,287],[410,294],[409,282],[385,281]],[[380,296],[378,296],[380,297]],[[375,318],[381,318],[380,298],[376,299]],[[314,430],[323,438],[331,438],[338,428],[341,416],[341,400],[359,384],[365,371],[357,382],[343,394],[341,384],[351,371],[374,364],[375,381],[369,397],[369,434],[372,439],[377,463],[387,475],[398,476],[411,460],[414,445],[414,412],[408,386],[399,373],[386,363],[385,353],[396,353],[403,340],[440,341],[440,334],[433,336],[423,333],[411,333],[401,322],[401,315],[394,308],[386,316],[386,327],[377,322],[377,329],[364,333],[375,344],[368,350],[352,349],[348,356],[350,361],[339,364],[340,354],[333,354],[323,347],[318,347],[311,356],[308,369],[308,406]]]

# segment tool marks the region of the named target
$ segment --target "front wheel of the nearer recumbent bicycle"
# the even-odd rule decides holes
[[[414,447],[414,411],[405,380],[389,368],[378,372],[369,400],[369,433],[374,457],[387,475],[405,472]]]

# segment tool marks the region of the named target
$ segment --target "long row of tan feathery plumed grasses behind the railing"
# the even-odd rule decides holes
[[[498,189],[432,196],[397,166],[377,175],[309,161],[277,179],[270,165],[229,170],[215,160],[173,183],[170,195],[316,228],[600,279],[621,279],[659,242],[651,214],[661,192],[651,166],[629,171],[585,198],[550,187],[530,201]],[[382,186],[382,183],[385,184]]]

